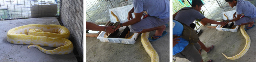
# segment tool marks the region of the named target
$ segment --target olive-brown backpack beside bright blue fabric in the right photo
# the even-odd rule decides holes
[[[176,20],[176,19],[173,19]],[[177,20],[178,21],[178,20]],[[180,21],[178,21],[180,22]],[[199,38],[196,34],[196,31],[194,29],[192,29],[190,26],[180,22],[183,25],[183,31],[182,31],[182,36],[174,36],[173,37],[180,37],[183,39],[186,39],[187,41],[189,41],[190,44],[194,44],[197,43],[199,41]]]

